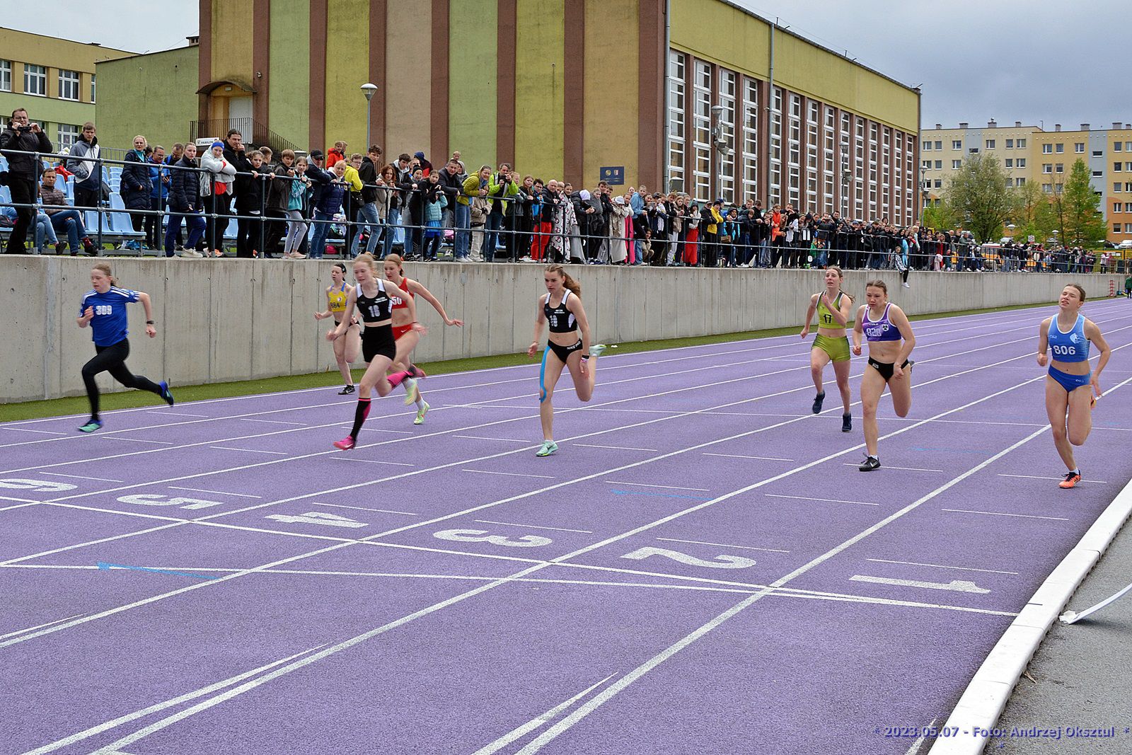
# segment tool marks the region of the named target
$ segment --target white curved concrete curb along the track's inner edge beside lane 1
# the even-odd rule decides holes
[[[955,730],[955,735],[936,739],[931,755],[983,753],[990,730],[1038,645],[1130,514],[1132,482],[1116,495],[1003,633],[941,727]]]

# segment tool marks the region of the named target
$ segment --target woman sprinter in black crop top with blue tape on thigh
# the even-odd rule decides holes
[[[574,378],[574,392],[582,401],[590,401],[597,377],[598,357],[606,348],[590,344],[590,321],[582,308],[582,286],[577,284],[561,265],[549,265],[542,275],[547,293],[539,297],[534,309],[534,341],[526,350],[533,357],[542,337],[542,324],[550,324],[547,349],[542,352],[542,369],[539,371],[539,419],[542,421],[542,447],[535,456],[549,456],[558,451],[554,441],[555,410],[550,398],[555,394],[563,368],[569,368]],[[578,337],[577,332],[582,331]]]

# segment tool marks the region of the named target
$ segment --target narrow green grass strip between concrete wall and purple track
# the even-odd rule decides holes
[[[926,320],[941,317],[959,317],[962,315],[986,315],[990,312],[1003,312],[1013,309],[1030,309],[1038,304],[1018,304],[1012,307],[994,307],[990,309],[961,309],[953,312],[936,312],[932,315],[914,315],[909,319]],[[663,341],[633,341],[617,344],[616,351],[608,354],[631,354],[638,351],[657,351],[661,349],[680,349],[684,346],[701,346],[713,343],[730,343],[732,341],[748,341],[752,338],[772,338],[783,335],[797,335],[799,327],[791,325],[788,327],[766,328],[763,331],[743,331],[740,333],[720,333],[717,335],[704,335],[688,338],[666,338]],[[445,375],[446,372],[465,372],[471,370],[482,370],[492,367],[512,367],[514,364],[538,364],[537,359],[531,359],[526,354],[498,354],[495,357],[472,357],[470,359],[447,359],[439,362],[421,362],[420,367],[429,375]],[[363,370],[353,371],[354,380],[360,380]],[[325,372],[311,372],[309,375],[285,375],[283,377],[263,378],[259,380],[237,380],[233,383],[206,383],[204,385],[179,386],[173,385],[173,395],[177,402],[204,401],[206,398],[230,398],[232,396],[249,396],[258,393],[280,393],[284,391],[300,391],[303,388],[320,388],[342,385],[342,376],[337,370]],[[161,400],[153,394],[140,391],[125,391],[119,393],[106,393],[102,395],[103,411],[115,409],[131,409],[135,406],[155,406],[162,404]],[[89,409],[86,396],[68,396],[66,398],[51,398],[48,401],[26,401],[17,404],[5,404],[0,406],[0,422],[11,422],[14,420],[40,419],[43,417],[62,417],[66,414],[83,414]]]

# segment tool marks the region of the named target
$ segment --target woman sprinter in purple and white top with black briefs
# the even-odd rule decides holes
[[[852,353],[860,355],[860,336],[864,334],[868,340],[868,367],[860,378],[860,403],[865,411],[868,457],[858,469],[872,472],[881,466],[876,454],[876,404],[884,386],[889,386],[897,417],[908,417],[908,410],[912,407],[912,364],[916,362],[908,361],[908,355],[916,348],[916,336],[903,310],[889,302],[889,288],[884,281],[869,281],[865,285],[865,302],[857,310],[857,321],[852,327]]]

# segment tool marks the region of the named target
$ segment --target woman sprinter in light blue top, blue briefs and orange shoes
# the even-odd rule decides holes
[[[1092,429],[1092,405],[1100,397],[1100,371],[1113,350],[1105,343],[1096,323],[1080,314],[1084,289],[1070,283],[1062,289],[1057,316],[1041,320],[1038,328],[1038,364],[1049,363],[1046,377],[1046,414],[1054,429],[1054,445],[1069,472],[1057,484],[1072,488],[1081,481],[1081,470],[1073,460],[1073,446],[1084,444]],[[1097,369],[1089,374],[1089,342],[1100,349]],[[1048,361],[1046,348],[1054,352]]]

